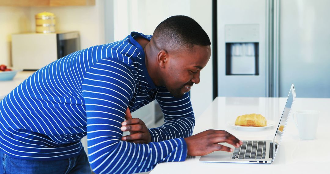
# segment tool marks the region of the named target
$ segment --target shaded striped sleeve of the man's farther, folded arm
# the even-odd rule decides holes
[[[164,114],[165,123],[161,127],[149,129],[152,142],[191,136],[195,117],[189,94],[175,98],[165,87],[160,87],[156,100]]]

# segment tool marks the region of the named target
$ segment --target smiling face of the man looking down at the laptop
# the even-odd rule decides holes
[[[182,97],[200,82],[200,71],[210,59],[211,47],[194,45],[189,50],[168,52],[168,56],[163,75],[165,87],[174,97]]]

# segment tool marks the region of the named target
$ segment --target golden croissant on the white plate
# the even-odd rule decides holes
[[[262,127],[267,125],[267,120],[260,114],[246,114],[238,116],[235,125]]]

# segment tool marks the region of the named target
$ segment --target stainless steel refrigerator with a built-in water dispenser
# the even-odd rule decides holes
[[[216,1],[217,96],[330,97],[330,1]]]

